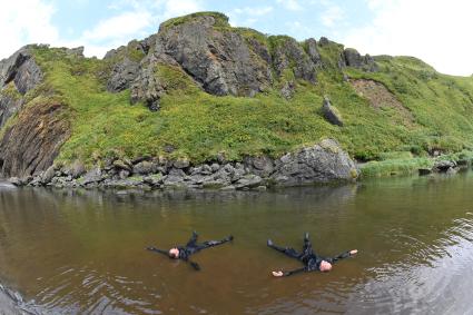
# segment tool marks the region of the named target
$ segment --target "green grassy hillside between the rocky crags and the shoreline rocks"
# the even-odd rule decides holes
[[[279,40],[247,29],[238,31],[257,37],[269,49]],[[161,99],[160,110],[152,112],[141,104],[130,105],[129,91],[106,91],[104,78],[111,61],[38,47],[33,53],[46,80],[31,98],[46,97],[48,90],[47,97],[60,98],[68,106],[71,138],[59,156],[66,163],[92,164],[110,156],[168,156],[199,163],[219,152],[237,160],[246,155],[280,156],[327,137],[361,160],[382,159],[383,154],[395,151],[426,156],[433,150],[473,148],[473,78],[441,75],[410,57],[378,57],[378,72],[339,69],[342,46],[331,42],[318,50],[324,66],[317,83],[296,80],[290,100],[279,92],[284,80],[294,79],[290,71],[254,98],[216,97],[204,92],[179,68],[160,65],[156,76],[173,88]],[[383,83],[404,108],[373,106],[352,82],[343,80],[343,72],[352,79]],[[344,127],[323,118],[325,95],[341,112]]]

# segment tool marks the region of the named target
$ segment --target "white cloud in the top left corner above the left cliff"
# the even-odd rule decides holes
[[[42,0],[3,1],[0,10],[0,59],[12,55],[26,43],[49,43],[58,40],[51,24],[52,4]]]

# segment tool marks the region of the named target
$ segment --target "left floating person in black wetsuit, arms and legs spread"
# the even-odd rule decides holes
[[[193,236],[190,237],[189,242],[187,242],[186,246],[176,246],[170,248],[169,250],[164,250],[155,247],[148,247],[146,249],[156,252],[159,254],[164,254],[168,256],[169,258],[174,259],[183,259],[186,263],[189,263],[194,269],[199,270],[200,267],[197,263],[190,262],[189,256],[196,254],[197,252],[200,252],[205,248],[214,247],[217,245],[221,245],[224,243],[230,242],[234,239],[234,237],[230,235],[221,240],[207,240],[200,244],[197,244],[197,233],[193,232]]]

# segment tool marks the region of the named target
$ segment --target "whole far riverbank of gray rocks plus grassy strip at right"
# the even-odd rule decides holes
[[[279,159],[248,157],[240,163],[215,160],[197,166],[188,160],[109,159],[86,170],[76,163],[55,165],[37,176],[10,178],[14,186],[104,189],[259,190],[354,181],[372,177],[455,174],[471,167],[472,151],[415,157],[408,151],[382,155],[380,160],[354,163],[338,144],[327,139]]]

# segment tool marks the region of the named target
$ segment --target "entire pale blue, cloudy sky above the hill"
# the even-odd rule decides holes
[[[0,0],[0,59],[27,43],[86,47],[99,58],[162,21],[219,11],[236,27],[298,40],[327,37],[362,53],[415,56],[473,73],[472,0]]]

